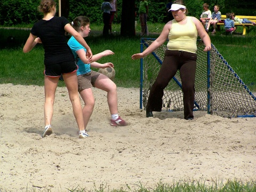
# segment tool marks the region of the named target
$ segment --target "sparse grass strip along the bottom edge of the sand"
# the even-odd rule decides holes
[[[138,192],[254,192],[256,191],[256,182],[248,181],[244,182],[241,180],[228,180],[227,182],[222,181],[211,181],[211,185],[207,185],[209,181],[202,180],[180,180],[174,181],[172,183],[164,183],[160,180],[154,187],[147,187],[147,185],[143,185],[142,183],[137,183],[135,185],[129,186],[125,185],[125,187],[121,187],[120,189],[110,189],[107,184],[101,183],[99,187],[96,187],[94,183],[93,189],[87,189],[83,187],[76,187],[61,191],[70,191],[70,192],[85,192],[85,191],[95,191],[95,192],[124,192],[124,191],[138,191]],[[1,189],[0,189],[1,191]],[[27,191],[37,191],[34,187],[33,189],[27,189]],[[47,191],[50,192],[51,188],[41,188],[38,191]]]

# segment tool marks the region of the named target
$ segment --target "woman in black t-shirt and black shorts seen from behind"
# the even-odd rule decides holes
[[[85,138],[88,135],[84,129],[82,106],[77,91],[77,65],[74,55],[66,42],[65,31],[73,35],[86,48],[86,56],[89,58],[89,62],[92,59],[91,49],[84,38],[71,27],[66,18],[54,17],[56,13],[54,0],[41,0],[38,10],[44,13],[44,17],[36,22],[31,29],[27,42],[23,47],[23,52],[29,52],[37,43],[42,43],[44,47],[45,129],[42,137],[52,134],[53,103],[59,77],[62,74],[79,128],[79,138]]]

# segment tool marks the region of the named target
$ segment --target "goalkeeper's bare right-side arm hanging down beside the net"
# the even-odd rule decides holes
[[[201,37],[201,39],[203,40],[203,42],[205,44],[204,51],[210,51],[212,46],[211,46],[211,39],[210,39],[209,35],[206,33],[203,25],[197,18],[192,17],[192,19],[196,25],[196,29],[197,29],[199,37]]]

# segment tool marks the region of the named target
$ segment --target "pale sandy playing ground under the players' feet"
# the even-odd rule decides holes
[[[131,125],[109,125],[106,93],[93,89],[89,138],[78,139],[66,87],[58,87],[52,127],[44,129],[44,88],[0,85],[0,191],[67,191],[155,187],[159,181],[256,179],[256,118],[223,118],[195,111],[139,109],[139,89],[118,87],[119,115]]]

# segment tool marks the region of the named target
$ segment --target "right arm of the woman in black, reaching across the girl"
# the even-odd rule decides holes
[[[92,51],[91,48],[87,45],[87,43],[85,42],[84,38],[68,23],[64,29],[71,35],[73,35],[75,37],[75,39],[81,44],[83,45],[83,47],[85,47],[86,51],[86,57],[89,58],[88,62],[92,61]]]

